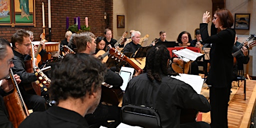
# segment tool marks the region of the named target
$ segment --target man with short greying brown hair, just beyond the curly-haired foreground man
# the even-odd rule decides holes
[[[84,43],[86,42],[86,43]],[[75,44],[77,46],[77,52],[80,54],[88,55],[95,52],[96,43],[95,35],[91,32],[82,32],[78,33],[75,38]],[[113,87],[120,87],[122,85],[122,78],[115,72],[110,69],[107,70],[107,73],[104,76],[104,81],[108,84],[113,85]],[[103,125],[107,120],[115,120],[117,123],[116,127],[120,123],[120,107],[114,105],[103,105],[99,103],[96,110],[92,114],[85,115],[85,118],[89,125]]]

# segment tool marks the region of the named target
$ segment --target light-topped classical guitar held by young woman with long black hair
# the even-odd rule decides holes
[[[118,39],[118,41],[116,43],[114,43],[114,47],[120,45],[120,44],[123,44],[126,40],[125,40],[125,36],[127,35],[127,31],[123,32],[122,36]],[[125,41],[124,41],[125,40]],[[104,51],[104,50],[99,50],[95,56],[101,60],[102,62],[106,62],[106,60],[108,59],[108,54],[109,54],[109,51]]]

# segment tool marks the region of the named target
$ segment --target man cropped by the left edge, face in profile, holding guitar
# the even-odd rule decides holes
[[[12,128],[12,123],[8,120],[8,112],[4,105],[2,96],[8,94],[13,89],[12,84],[8,84],[9,69],[13,67],[12,62],[13,52],[9,46],[9,42],[0,38],[0,127]],[[20,83],[20,78],[17,74],[13,75],[16,82]]]

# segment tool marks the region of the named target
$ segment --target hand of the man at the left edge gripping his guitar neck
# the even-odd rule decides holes
[[[17,84],[21,82],[19,75],[14,74],[13,76],[14,76]],[[13,85],[12,85],[12,81],[11,81],[10,77],[7,79],[2,79],[1,88],[5,92],[9,92],[13,89]]]

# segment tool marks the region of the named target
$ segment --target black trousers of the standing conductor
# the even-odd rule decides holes
[[[227,107],[230,95],[229,86],[226,87],[210,87],[209,99],[210,99],[210,126],[215,127],[227,127]]]

